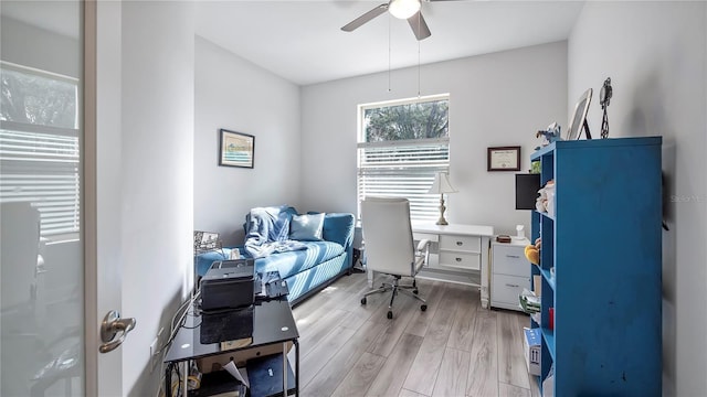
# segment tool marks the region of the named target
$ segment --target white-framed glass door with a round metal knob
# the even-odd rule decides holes
[[[120,347],[98,352],[122,286],[118,261],[98,260],[119,240],[102,244],[116,227],[97,215],[95,8],[0,2],[2,396],[123,394]]]

